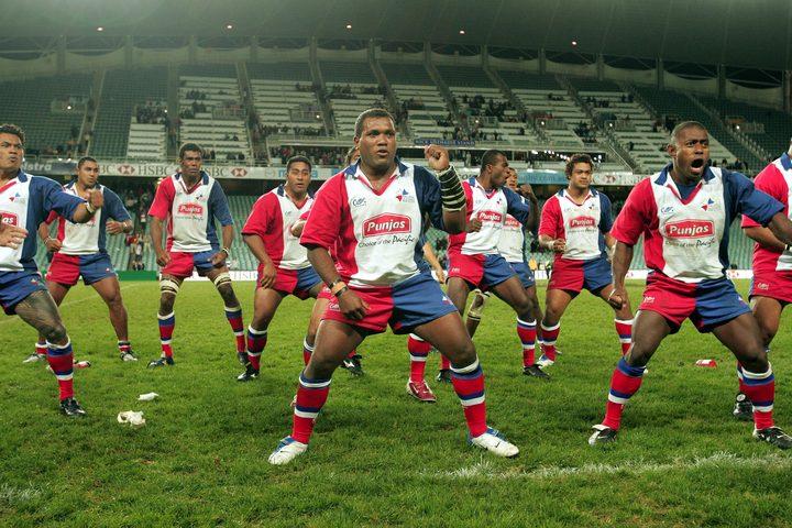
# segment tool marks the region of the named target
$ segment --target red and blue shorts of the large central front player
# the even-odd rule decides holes
[[[348,319],[332,297],[323,318],[360,327],[367,333],[384,332],[388,324],[394,333],[410,333],[416,327],[457,311],[437,280],[427,273],[391,287],[349,286],[349,289],[369,305],[365,317],[359,321]]]

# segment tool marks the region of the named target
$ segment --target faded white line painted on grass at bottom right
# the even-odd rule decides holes
[[[496,468],[492,461],[482,459],[480,462],[453,471],[422,472],[421,476],[433,479],[486,479],[486,480],[553,480],[565,476],[588,476],[607,475],[613,473],[664,473],[674,470],[691,470],[697,468],[772,468],[792,469],[792,459],[777,453],[763,457],[743,458],[725,451],[711,454],[710,457],[696,457],[694,459],[674,459],[671,462],[647,462],[644,460],[627,461],[620,464],[583,464],[579,468],[568,466],[540,466],[529,471],[508,471]]]

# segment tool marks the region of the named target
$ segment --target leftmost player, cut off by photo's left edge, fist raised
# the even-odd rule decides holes
[[[24,132],[0,124],[0,305],[44,336],[47,362],[61,393],[66,416],[86,413],[74,397],[72,341],[57,306],[36,268],[35,233],[51,211],[72,222],[85,223],[102,207],[102,194],[89,191],[88,200],[64,193],[55,182],[21,170]]]

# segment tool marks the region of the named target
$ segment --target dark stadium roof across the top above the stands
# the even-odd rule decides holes
[[[98,28],[107,36],[430,41],[792,69],[790,0],[29,0],[0,21],[6,38]]]

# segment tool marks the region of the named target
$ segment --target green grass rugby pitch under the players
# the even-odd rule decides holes
[[[745,293],[747,283],[738,285]],[[405,393],[405,337],[367,339],[366,375],[345,371],[293,464],[266,457],[290,430],[310,301],[288,298],[270,329],[258,381],[240,384],[230,328],[208,283],[176,304],[176,366],[160,353],[156,283],[123,283],[136,364],[117,359],[107,310],[90,288],[66,298],[87,419],[57,413],[56,384],[23,365],[34,332],[0,319],[0,525],[6,526],[790,526],[792,459],[732,418],[734,360],[690,324],[667,339],[628,405],[618,441],[587,446],[619,356],[612,310],[583,294],[562,320],[549,383],[520,373],[515,317],[487,306],[475,338],[490,424],[519,446],[516,460],[465,446],[448,385],[438,404]],[[642,284],[634,283],[634,305]],[[540,284],[543,295],[544,284]],[[237,284],[252,310],[252,283]],[[790,312],[773,343],[780,426],[792,429]],[[717,369],[694,366],[715,359]],[[432,377],[437,354],[429,358]],[[151,403],[138,395],[156,392]],[[146,426],[116,421],[142,410]]]

